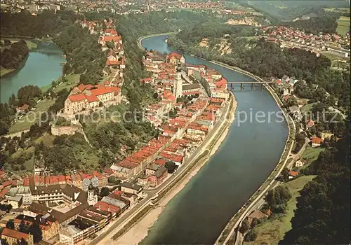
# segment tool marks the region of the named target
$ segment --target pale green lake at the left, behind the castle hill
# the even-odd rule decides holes
[[[57,80],[62,75],[62,51],[54,43],[35,41],[38,47],[29,52],[29,55],[20,64],[20,67],[11,73],[1,76],[0,102],[7,102],[11,94],[15,94],[25,85],[44,87]]]

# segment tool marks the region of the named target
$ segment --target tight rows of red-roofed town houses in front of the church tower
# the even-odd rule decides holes
[[[168,176],[166,162],[182,165],[212,130],[224,105],[224,99],[216,98],[194,98],[190,106],[173,104],[180,108],[177,116],[164,118],[157,139],[105,171],[127,180],[138,176],[138,184],[148,188],[159,186]]]

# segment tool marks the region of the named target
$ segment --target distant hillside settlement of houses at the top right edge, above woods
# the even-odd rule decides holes
[[[267,41],[278,43],[281,48],[300,48],[316,53],[330,52],[340,57],[350,57],[350,36],[337,34],[306,34],[291,27],[263,27],[263,35]],[[348,49],[343,48],[348,47]]]

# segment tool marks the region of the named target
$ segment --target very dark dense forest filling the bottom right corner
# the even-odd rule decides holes
[[[350,132],[350,128],[347,129]],[[292,230],[279,244],[350,243],[350,134],[320,153],[305,174],[318,176],[300,192]]]

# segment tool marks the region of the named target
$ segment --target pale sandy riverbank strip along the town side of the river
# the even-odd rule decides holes
[[[133,228],[128,230],[128,232],[126,232],[124,235],[119,237],[119,239],[117,239],[117,241],[112,241],[111,244],[130,244],[130,245],[131,244],[138,244],[145,237],[147,237],[148,230],[150,228],[152,228],[152,225],[154,225],[154,223],[159,218],[159,215],[162,213],[162,211],[164,211],[164,208],[166,207],[168,202],[171,201],[171,199],[173,197],[175,197],[180,192],[180,190],[182,190],[185,187],[185,185],[187,183],[189,183],[189,181],[192,179],[192,177],[195,176],[197,174],[197,172],[199,172],[201,167],[203,167],[206,164],[206,162],[208,162],[208,160],[211,158],[211,156],[216,153],[220,144],[222,144],[222,142],[225,140],[225,137],[227,137],[227,133],[230,129],[230,125],[232,124],[232,122],[234,121],[234,118],[235,118],[236,109],[237,109],[237,101],[234,100],[233,109],[228,112],[228,113],[230,113],[229,121],[227,123],[225,123],[225,125],[223,126],[223,127],[225,127],[225,129],[223,129],[223,127],[218,129],[218,132],[222,132],[222,133],[220,134],[220,137],[218,137],[216,144],[214,144],[213,147],[211,147],[211,149],[208,149],[208,144],[211,144],[212,141],[209,141],[206,144],[206,146],[204,146],[204,149],[208,149],[208,151],[210,151],[208,153],[208,155],[206,155],[206,157],[203,158],[201,160],[201,162],[196,167],[194,167],[194,169],[191,170],[190,174],[185,176],[185,178],[182,181],[180,181],[178,186],[173,188],[171,190],[171,192],[169,192],[161,200],[161,202],[159,202],[157,207],[152,209],[143,219],[141,219],[138,223],[136,223],[133,226]]]

